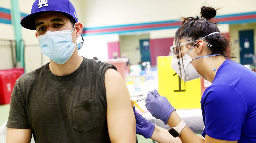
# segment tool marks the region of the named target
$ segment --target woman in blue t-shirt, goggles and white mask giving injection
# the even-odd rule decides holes
[[[200,15],[184,18],[176,31],[171,66],[183,81],[203,78],[212,83],[201,98],[205,138],[194,134],[157,90],[148,93],[146,108],[171,128],[154,126],[134,110],[136,132],[158,142],[179,137],[183,143],[255,143],[256,73],[228,59],[234,57],[229,40],[211,21],[216,9],[203,6]]]

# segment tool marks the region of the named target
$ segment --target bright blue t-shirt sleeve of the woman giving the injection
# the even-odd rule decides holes
[[[221,140],[240,139],[247,104],[235,87],[227,84],[212,85],[202,107],[206,135]]]

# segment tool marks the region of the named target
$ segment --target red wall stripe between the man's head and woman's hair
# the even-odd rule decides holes
[[[176,23],[165,23],[165,24],[152,24],[152,25],[140,25],[140,26],[131,26],[131,27],[118,27],[118,28],[109,28],[109,29],[92,29],[85,30],[84,33],[101,33],[101,32],[115,32],[115,31],[126,31],[126,30],[137,30],[137,29],[147,29],[147,28],[156,28],[156,27],[169,27],[169,26],[178,26],[181,22]]]

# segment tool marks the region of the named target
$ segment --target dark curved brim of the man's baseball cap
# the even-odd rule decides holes
[[[32,14],[29,14],[29,15],[25,16],[25,17],[20,21],[21,26],[24,27],[24,28],[30,29],[30,30],[36,30],[36,27],[35,27],[35,20],[36,20],[36,18],[37,18],[40,14],[45,13],[45,12],[60,12],[60,13],[67,14],[67,15],[71,16],[71,18],[72,18],[72,15],[70,15],[69,13],[63,12],[63,11],[44,10],[44,11],[38,11],[38,12],[35,12],[35,13],[32,13]],[[74,18],[72,18],[72,19],[74,19]],[[75,19],[74,19],[74,20],[75,20]],[[75,22],[77,22],[77,21],[75,20]]]

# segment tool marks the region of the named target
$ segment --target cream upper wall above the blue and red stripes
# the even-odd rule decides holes
[[[203,5],[221,8],[217,15],[256,11],[255,0],[85,0],[85,27],[101,27],[196,16]]]

